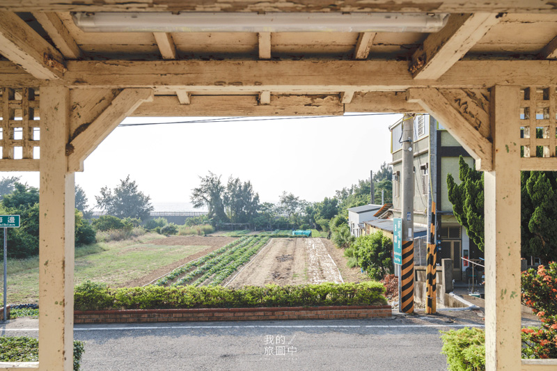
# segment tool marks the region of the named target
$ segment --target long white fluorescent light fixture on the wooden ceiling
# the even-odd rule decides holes
[[[437,32],[448,14],[73,13],[86,32]]]

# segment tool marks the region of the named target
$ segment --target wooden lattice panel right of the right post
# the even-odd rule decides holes
[[[555,158],[557,145],[556,87],[530,86],[521,89],[520,93],[521,157],[526,159]]]

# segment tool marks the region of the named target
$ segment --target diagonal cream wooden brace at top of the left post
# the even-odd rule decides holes
[[[122,93],[85,129],[74,136],[66,145],[69,171],[81,171],[83,161],[124,118],[130,116],[143,102],[153,99],[151,89],[124,89]]]

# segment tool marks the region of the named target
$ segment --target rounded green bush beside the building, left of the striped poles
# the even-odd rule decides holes
[[[358,265],[368,272],[368,276],[381,280],[385,274],[393,273],[391,251],[393,242],[381,231],[377,231],[372,235],[356,238],[353,255],[358,260]]]

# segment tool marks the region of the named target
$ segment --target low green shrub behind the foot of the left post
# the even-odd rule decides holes
[[[26,336],[0,337],[0,362],[38,362],[39,342]],[[74,371],[79,371],[85,342],[74,340]]]

